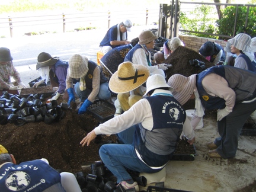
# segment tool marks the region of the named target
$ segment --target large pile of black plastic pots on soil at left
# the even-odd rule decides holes
[[[58,122],[65,116],[68,104],[57,104],[56,100],[44,104],[43,94],[31,94],[27,98],[3,92],[0,98],[0,124],[14,123],[23,126],[29,122],[44,121],[46,124]]]

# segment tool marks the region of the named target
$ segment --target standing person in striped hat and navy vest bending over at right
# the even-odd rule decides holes
[[[192,127],[196,127],[207,110],[217,109],[220,137],[207,146],[211,158],[233,158],[245,121],[256,110],[256,73],[220,65],[189,77],[175,74],[168,79],[172,94],[181,105],[196,99]]]

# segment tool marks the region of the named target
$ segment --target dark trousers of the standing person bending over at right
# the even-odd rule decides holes
[[[221,121],[217,121],[220,137],[215,139],[218,146],[217,153],[222,158],[232,158],[238,148],[238,138],[245,121],[256,110],[256,101],[251,103],[238,103],[233,111]]]

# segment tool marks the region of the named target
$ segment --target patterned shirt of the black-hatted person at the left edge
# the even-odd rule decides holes
[[[11,77],[17,83],[21,82],[20,73],[14,68],[12,61],[7,65],[0,65],[0,89],[9,89],[12,86]]]

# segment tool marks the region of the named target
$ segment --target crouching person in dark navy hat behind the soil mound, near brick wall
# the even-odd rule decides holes
[[[226,59],[226,53],[224,52],[223,47],[212,41],[204,43],[200,47],[199,53],[206,57],[209,62],[215,63],[215,65],[222,65]]]

